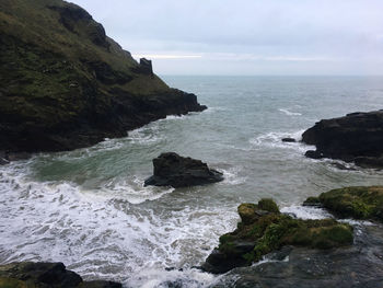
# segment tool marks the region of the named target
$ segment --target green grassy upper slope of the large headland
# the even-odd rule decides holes
[[[120,84],[121,89],[132,94],[150,95],[169,89],[158,77],[143,77],[135,72],[138,67],[137,61],[113,39],[106,37],[107,45],[105,45],[108,47],[92,42],[92,37],[100,33],[100,25],[92,19],[88,19],[90,15],[85,11],[81,12],[85,19],[73,22],[69,16],[65,22],[70,25],[66,26],[56,8],[83,11],[78,5],[61,0],[2,0],[0,1],[0,33],[40,47],[42,50],[60,55],[77,67],[80,67],[84,60],[105,62],[113,70],[132,77],[134,81]],[[88,79],[92,78],[89,71],[79,69],[82,69],[81,72]]]

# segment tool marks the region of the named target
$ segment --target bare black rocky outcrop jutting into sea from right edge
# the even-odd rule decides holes
[[[355,161],[361,166],[383,168],[383,111],[351,113],[324,119],[302,135],[302,141],[315,145],[310,158]]]

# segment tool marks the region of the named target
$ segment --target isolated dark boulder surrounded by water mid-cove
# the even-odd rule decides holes
[[[153,159],[153,176],[144,185],[186,187],[223,180],[222,173],[209,169],[200,160],[184,158],[174,152],[162,153]]]

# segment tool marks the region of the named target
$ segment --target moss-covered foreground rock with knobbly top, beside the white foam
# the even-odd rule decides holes
[[[265,203],[269,210],[260,208]],[[262,199],[257,205],[242,204],[239,214],[242,222],[235,231],[220,237],[219,246],[202,265],[205,270],[219,274],[248,266],[285,245],[332,249],[350,245],[353,240],[352,228],[347,223],[294,219],[280,214],[271,199]]]

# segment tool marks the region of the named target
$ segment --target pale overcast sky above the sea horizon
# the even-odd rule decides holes
[[[69,0],[159,74],[383,74],[383,0]]]

